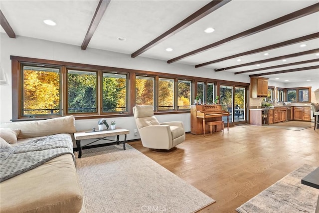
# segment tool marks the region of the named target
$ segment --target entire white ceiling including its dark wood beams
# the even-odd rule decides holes
[[[319,82],[318,0],[1,0],[0,9],[1,32],[12,39],[189,64],[196,76],[204,67]],[[215,31],[205,33],[208,27]]]

